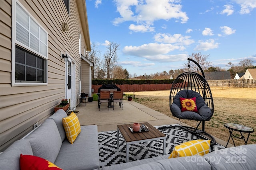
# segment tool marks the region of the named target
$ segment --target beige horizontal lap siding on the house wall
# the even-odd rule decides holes
[[[68,15],[62,0],[19,1],[48,32],[48,84],[46,86],[12,86],[12,2],[15,3],[11,0],[0,1],[1,151],[31,131],[36,122],[42,123],[54,112],[54,106],[65,98],[65,62],[61,60],[62,53],[67,52],[74,59],[76,94],[78,94],[78,73],[79,64],[81,64],[80,33],[82,34],[81,45],[84,46],[82,49],[86,48],[86,37],[84,37],[83,31],[80,31],[82,23],[75,0],[70,0],[70,15]],[[62,22],[68,23],[69,31],[62,31]],[[86,50],[90,51],[90,49]],[[78,97],[78,95],[76,96]],[[76,98],[76,106],[77,104]]]

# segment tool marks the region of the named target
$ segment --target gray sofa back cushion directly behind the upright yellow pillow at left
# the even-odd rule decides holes
[[[56,113],[54,113],[53,115],[51,115],[49,117],[49,119],[53,119],[58,127],[59,133],[60,133],[60,137],[61,140],[64,141],[64,139],[66,138],[66,133],[65,133],[65,129],[63,127],[62,124],[62,118],[63,117],[67,117],[68,115],[66,114],[66,112],[63,109],[58,109],[56,111]]]

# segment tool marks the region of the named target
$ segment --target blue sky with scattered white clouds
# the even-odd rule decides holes
[[[192,53],[212,66],[256,65],[256,0],[86,0],[90,40],[101,56],[120,44],[118,64],[144,75],[183,68]]]

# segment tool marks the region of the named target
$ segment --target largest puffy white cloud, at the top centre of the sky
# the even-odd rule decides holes
[[[188,21],[186,12],[182,12],[182,6],[177,1],[170,0],[115,0],[117,12],[120,17],[115,18],[114,25],[125,21],[134,21],[136,24],[131,24],[130,28],[135,28],[135,25],[145,25],[145,28],[152,28],[156,20],[176,19],[181,23]],[[134,29],[133,31],[144,31],[144,29]],[[154,31],[154,29],[148,29]]]

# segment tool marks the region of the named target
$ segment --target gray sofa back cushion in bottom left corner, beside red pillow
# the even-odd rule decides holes
[[[15,141],[0,154],[1,170],[20,170],[20,154],[33,155],[27,139]]]

